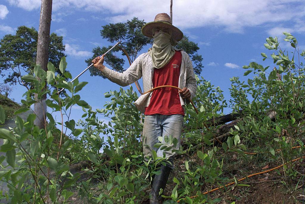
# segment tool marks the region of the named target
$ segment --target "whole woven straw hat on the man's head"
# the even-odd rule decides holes
[[[152,28],[169,28],[173,31],[173,38],[177,42],[180,41],[183,37],[183,33],[177,27],[173,26],[172,21],[166,13],[158,13],[155,17],[155,20],[145,24],[142,27],[143,35],[152,38]]]

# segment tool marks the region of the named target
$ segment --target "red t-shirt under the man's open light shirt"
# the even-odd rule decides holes
[[[171,85],[178,87],[182,55],[176,51],[173,58],[163,68],[155,69],[152,85],[153,87]],[[145,115],[184,115],[181,106],[178,89],[163,87],[152,92],[149,106],[145,109]]]

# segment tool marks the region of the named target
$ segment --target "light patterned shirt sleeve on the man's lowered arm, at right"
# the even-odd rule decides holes
[[[185,87],[191,92],[191,99],[195,97],[197,90],[196,77],[193,69],[193,64],[190,57],[187,54],[186,60],[186,82]]]

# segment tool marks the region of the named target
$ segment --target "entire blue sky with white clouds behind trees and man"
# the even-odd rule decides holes
[[[1,0],[0,38],[14,34],[21,25],[38,30],[40,3],[40,0]],[[74,77],[86,68],[84,60],[92,56],[92,48],[110,45],[100,36],[102,25],[126,22],[132,17],[153,21],[157,13],[169,13],[169,5],[170,0],[53,0],[51,32],[63,35],[67,69]],[[278,36],[280,45],[290,49],[281,33],[291,32],[297,37],[300,49],[305,48],[304,17],[305,2],[297,0],[173,1],[173,24],[200,47],[205,66],[201,76],[219,86],[227,100],[229,78],[247,79],[243,77],[243,65],[251,61],[273,65],[270,60],[263,62],[260,56],[261,52],[271,54],[264,48],[267,37]],[[109,80],[91,77],[89,72],[84,73],[80,81],[89,82],[79,94],[93,109],[102,108],[109,100],[104,98],[105,92],[120,88]],[[16,85],[10,97],[20,102],[25,91]],[[72,118],[77,121],[82,114],[75,106]]]

